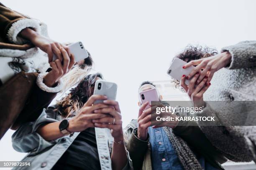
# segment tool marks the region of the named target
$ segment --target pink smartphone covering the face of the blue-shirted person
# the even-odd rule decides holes
[[[151,101],[159,101],[159,96],[157,94],[156,89],[154,88],[140,92],[140,97],[141,97],[142,104],[145,102],[148,102],[148,104],[151,105]],[[150,105],[147,105],[145,110],[148,109]]]

